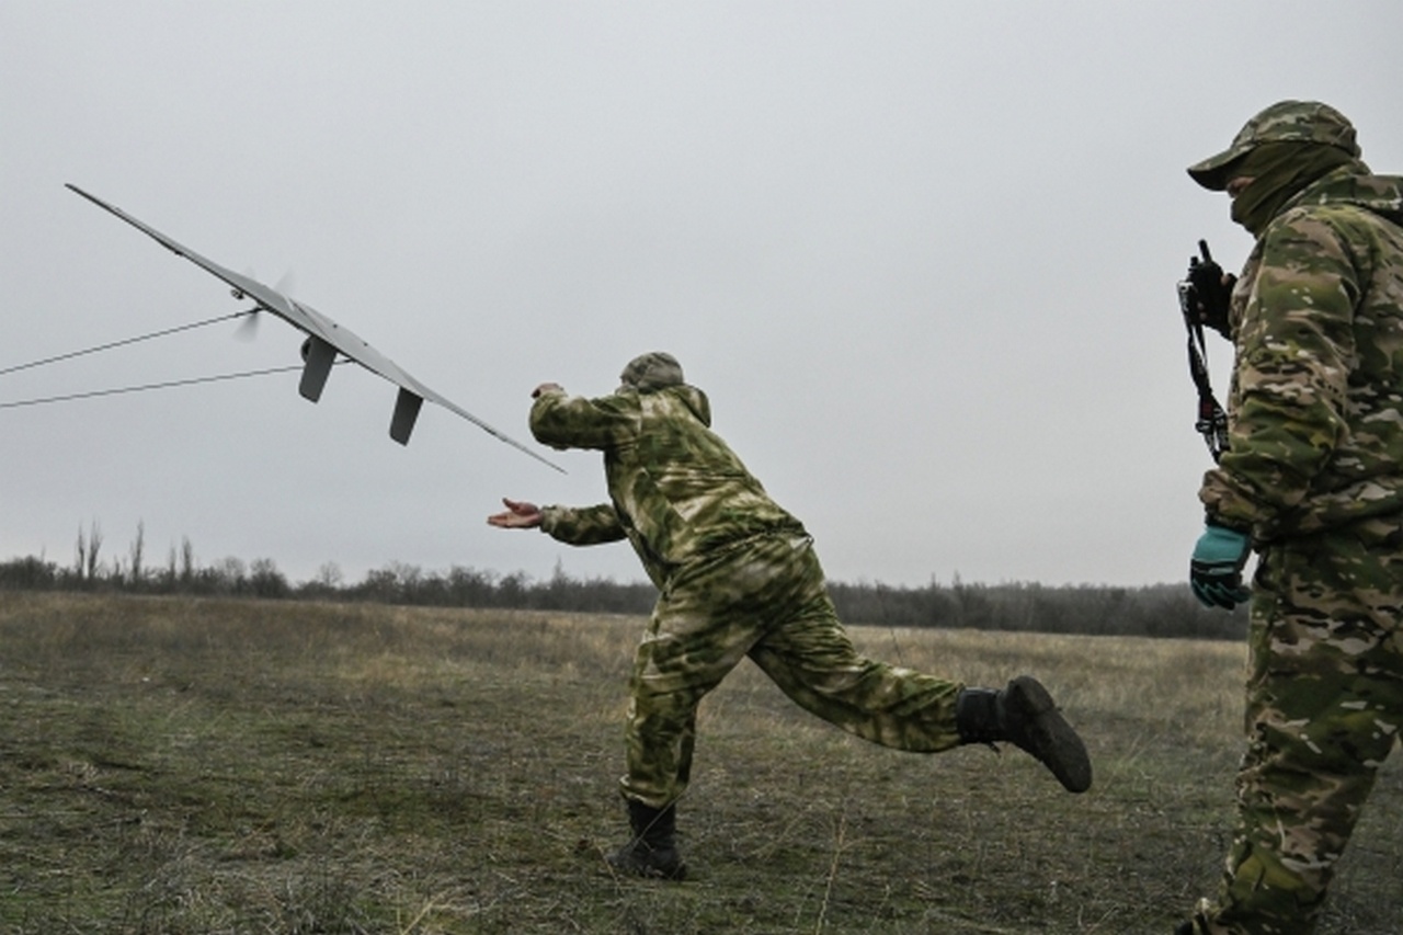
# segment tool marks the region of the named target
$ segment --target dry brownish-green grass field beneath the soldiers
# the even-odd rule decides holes
[[[1069,796],[1017,751],[882,750],[744,664],[702,709],[692,879],[616,879],[641,621],[0,592],[0,931],[1167,934],[1214,882],[1236,643],[853,628],[1082,729]],[[1324,932],[1403,931],[1397,758]]]

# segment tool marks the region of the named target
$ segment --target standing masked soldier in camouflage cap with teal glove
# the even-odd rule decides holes
[[[1247,748],[1222,882],[1181,935],[1315,931],[1403,722],[1403,180],[1360,154],[1338,111],[1282,101],[1188,168],[1257,240],[1190,571],[1204,604],[1250,601]]]

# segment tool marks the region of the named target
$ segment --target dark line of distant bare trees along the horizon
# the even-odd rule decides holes
[[[550,578],[521,571],[499,574],[452,566],[425,571],[393,562],[347,583],[335,563],[293,584],[272,559],[246,564],[227,557],[199,566],[189,539],[171,546],[164,567],[147,566],[146,531],[137,524],[126,560],[101,560],[102,531],[79,528],[74,562],[62,567],[43,556],[0,562],[0,591],[69,590],[194,594],[271,599],[372,601],[432,606],[516,608],[582,614],[647,614],[657,597],[651,584],[612,578],[574,578],[557,563]],[[1246,609],[1232,614],[1201,606],[1184,584],[1138,588],[1107,585],[968,584],[943,585],[829,583],[839,616],[847,623],[899,628],[968,628],[1042,633],[1240,639]]]

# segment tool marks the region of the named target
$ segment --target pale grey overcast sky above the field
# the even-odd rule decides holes
[[[0,0],[0,369],[237,312],[74,183],[354,329],[535,445],[542,380],[668,350],[831,577],[1177,581],[1208,466],[1184,167],[1287,97],[1403,171],[1403,4]],[[1347,45],[1336,37],[1347,37]],[[290,278],[285,278],[290,277]],[[0,375],[0,403],[297,362],[234,323]],[[1211,347],[1226,385],[1228,347]],[[0,557],[641,580],[491,529],[557,473],[338,368],[0,409]]]

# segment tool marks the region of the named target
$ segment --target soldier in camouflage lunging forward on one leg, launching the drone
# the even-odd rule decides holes
[[[711,431],[706,394],[669,354],[644,354],[609,396],[536,387],[530,430],[554,448],[603,452],[610,501],[588,508],[505,500],[488,517],[571,545],[627,539],[658,587],[638,646],[622,779],[633,838],[610,863],[682,879],[676,802],[687,786],[702,698],[742,658],[804,709],[887,747],[939,752],[1007,741],[1070,792],[1092,783],[1082,740],[1047,689],[1021,675],[1003,689],[864,658],[828,597],[804,525],[765,493]]]

